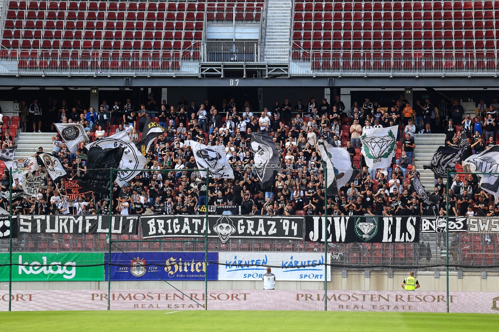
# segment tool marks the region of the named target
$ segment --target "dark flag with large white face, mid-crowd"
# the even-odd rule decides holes
[[[276,144],[272,137],[266,133],[252,133],[251,149],[254,154],[254,169],[260,185],[262,188],[271,186],[274,180],[274,171],[281,169]]]

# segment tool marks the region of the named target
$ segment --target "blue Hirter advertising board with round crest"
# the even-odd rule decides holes
[[[108,262],[106,253],[104,262]],[[218,280],[218,253],[209,252],[113,252],[111,253],[111,281],[120,280]],[[108,279],[108,269],[105,279]]]

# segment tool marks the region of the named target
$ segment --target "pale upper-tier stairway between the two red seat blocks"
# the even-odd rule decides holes
[[[269,63],[289,62],[291,35],[291,0],[268,0],[265,26],[265,60]]]

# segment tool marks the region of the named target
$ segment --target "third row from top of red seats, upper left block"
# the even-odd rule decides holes
[[[145,24],[144,24],[145,23]],[[43,20],[6,20],[5,28],[8,30],[107,30],[116,31],[116,33],[121,33],[121,30],[202,30],[202,21],[157,21],[157,22],[82,22],[82,21],[43,21]],[[35,33],[41,33],[40,31],[34,31]],[[56,33],[56,32],[54,32]]]

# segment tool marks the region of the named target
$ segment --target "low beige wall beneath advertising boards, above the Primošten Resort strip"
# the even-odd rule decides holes
[[[388,271],[371,271],[366,277],[365,271],[347,271],[347,277],[342,277],[342,271],[332,271],[328,290],[355,290],[355,291],[399,291],[400,284],[407,276],[407,271],[393,271],[393,277],[388,277]],[[445,273],[435,278],[433,271],[417,272],[421,284],[420,291],[446,290]],[[204,281],[168,281],[173,287],[182,290],[199,290],[205,288]],[[210,290],[259,290],[262,281],[208,281]],[[13,290],[105,290],[107,281],[38,281],[38,282],[13,282]],[[8,291],[7,282],[0,284],[0,291]],[[164,281],[112,281],[111,290],[129,289],[172,289]],[[279,281],[276,289],[280,290],[323,290],[324,282],[318,281]],[[449,273],[449,290],[452,292],[499,292],[499,272],[488,272],[482,278],[481,272],[463,272],[463,277],[458,277],[457,271]]]

